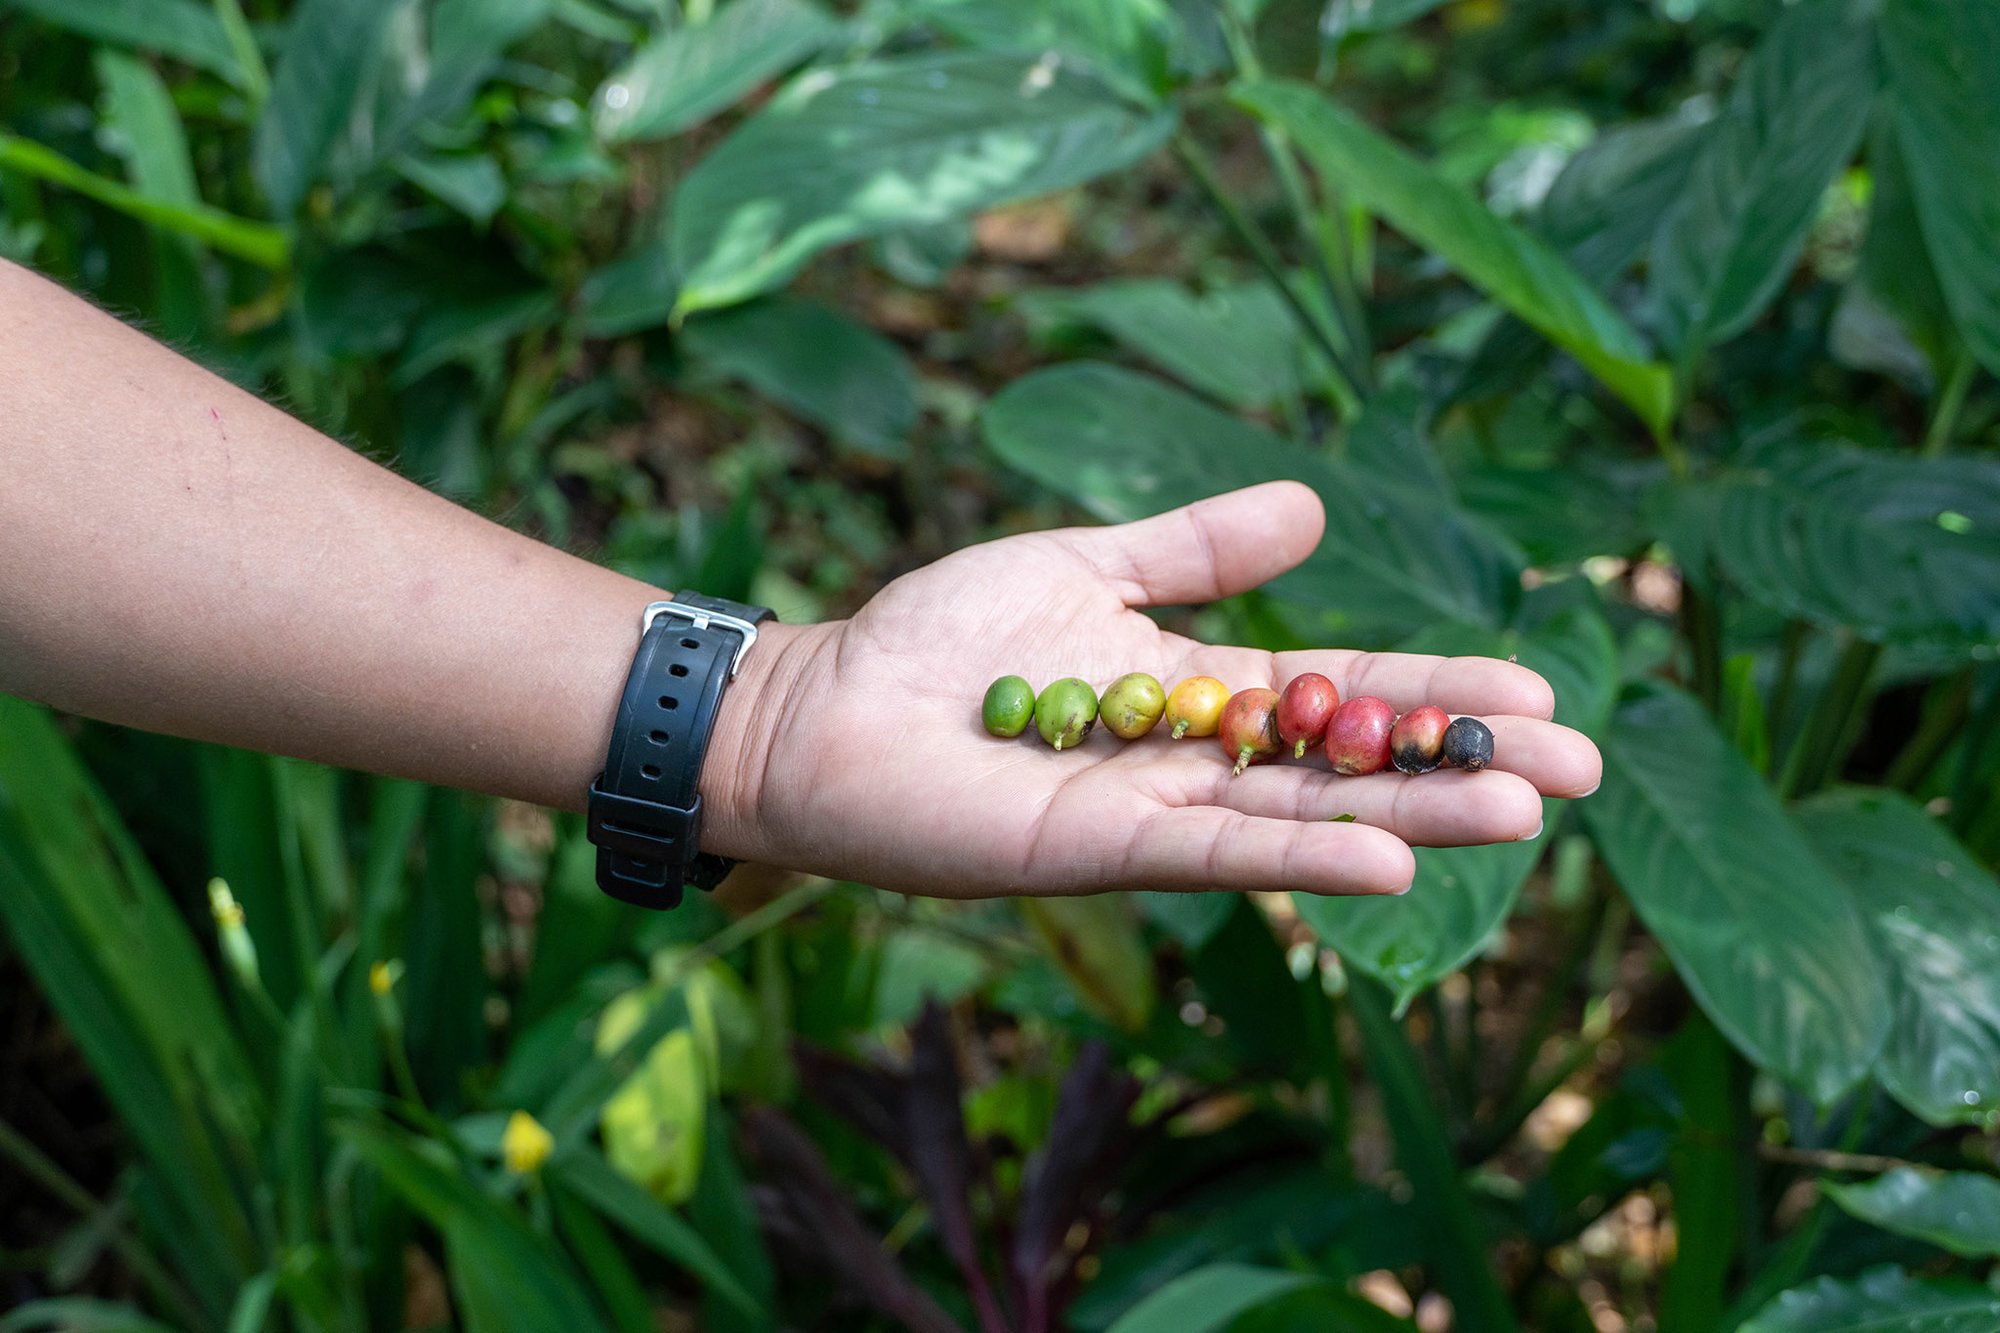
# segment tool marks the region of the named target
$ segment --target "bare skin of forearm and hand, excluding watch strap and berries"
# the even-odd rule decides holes
[[[488,522],[0,262],[0,691],[84,717],[582,809],[664,592]],[[724,697],[704,847],[936,897],[1394,893],[1412,845],[1540,831],[1596,789],[1532,671],[1210,646],[1144,606],[1298,564],[1324,514],[1270,482],[1140,522],[970,546],[850,620],[772,624]],[[994,741],[978,705],[1128,671],[1480,715],[1480,775],[1230,779],[1212,745]],[[1330,823],[1354,815],[1354,823]]]

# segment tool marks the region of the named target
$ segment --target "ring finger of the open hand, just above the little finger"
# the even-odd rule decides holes
[[[1208,799],[1254,819],[1324,823],[1352,817],[1410,847],[1520,843],[1542,831],[1542,797],[1514,773],[1438,771],[1422,777],[1340,777],[1256,767],[1210,783]]]

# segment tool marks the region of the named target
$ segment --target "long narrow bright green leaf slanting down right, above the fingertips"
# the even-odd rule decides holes
[[[1286,130],[1320,176],[1380,214],[1502,306],[1576,356],[1654,434],[1672,416],[1672,376],[1632,326],[1544,242],[1368,128],[1310,84],[1240,84],[1236,100]]]

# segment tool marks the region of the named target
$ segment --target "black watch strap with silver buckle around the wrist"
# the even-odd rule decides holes
[[[722,691],[756,636],[742,626],[770,618],[764,606],[698,592],[646,608],[604,773],[590,785],[598,887],[614,899],[678,907],[684,885],[714,889],[734,865],[700,853],[702,761]]]

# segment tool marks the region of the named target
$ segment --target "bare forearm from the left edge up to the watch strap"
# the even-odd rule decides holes
[[[0,262],[0,691],[580,807],[658,592]]]

